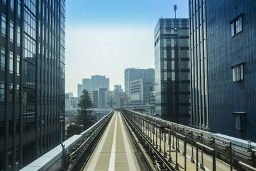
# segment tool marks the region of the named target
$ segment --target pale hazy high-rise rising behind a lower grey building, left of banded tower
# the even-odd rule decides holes
[[[124,90],[125,93],[130,96],[130,83],[138,79],[150,79],[155,80],[155,70],[152,68],[149,69],[140,69],[140,68],[127,68],[124,70]]]

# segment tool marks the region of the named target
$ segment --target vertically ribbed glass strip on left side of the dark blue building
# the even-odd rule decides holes
[[[191,126],[209,129],[205,0],[189,0]]]

